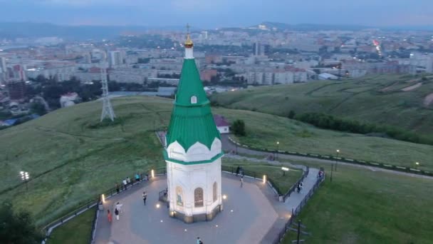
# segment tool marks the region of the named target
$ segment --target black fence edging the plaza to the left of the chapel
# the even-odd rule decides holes
[[[156,168],[153,170],[155,176],[156,175],[165,175],[167,174],[167,170],[166,168]],[[78,205],[78,208],[76,208],[75,210],[66,213],[65,215],[61,216],[60,218],[57,218],[56,220],[54,220],[53,222],[49,223],[48,225],[46,225],[45,227],[43,227],[43,231],[46,233],[46,239],[49,239],[50,235],[51,235],[51,231],[53,230],[53,228],[58,227],[59,225],[63,224],[64,222],[74,218],[76,215],[79,215],[80,213],[85,212],[86,210],[95,207],[95,215],[93,218],[93,225],[92,225],[92,232],[90,234],[90,243],[93,243],[93,238],[94,238],[94,233],[95,233],[95,223],[98,217],[98,204],[100,203],[100,196],[102,194],[104,194],[107,198],[109,196],[112,195],[116,195],[118,193],[122,193],[123,191],[127,190],[127,188],[132,187],[132,185],[135,185],[137,183],[140,183],[142,181],[149,181],[150,177],[152,176],[152,170],[147,171],[147,172],[143,172],[143,173],[139,173],[140,175],[140,181],[136,181],[135,180],[135,173],[132,177],[130,177],[131,179],[131,183],[126,185],[126,188],[122,185],[121,180],[119,180],[119,187],[114,186],[113,188],[109,188],[108,190],[105,190],[104,192],[98,194],[97,196],[91,198],[90,200],[86,201],[85,203],[82,203],[80,205]]]

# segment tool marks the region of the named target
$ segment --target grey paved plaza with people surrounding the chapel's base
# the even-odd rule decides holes
[[[273,191],[261,181],[246,178],[241,188],[236,176],[222,176],[222,194],[227,198],[223,200],[224,210],[214,220],[186,224],[170,218],[167,205],[158,201],[158,193],[167,187],[167,178],[158,176],[106,200],[95,243],[195,243],[197,236],[204,243],[261,243],[278,219],[270,202],[278,203]],[[147,192],[146,206],[143,190]],[[113,223],[108,223],[106,210],[114,212],[118,201],[122,204],[120,220],[113,215]]]

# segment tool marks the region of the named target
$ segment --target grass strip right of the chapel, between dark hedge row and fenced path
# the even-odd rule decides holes
[[[415,162],[419,162],[419,169],[433,171],[433,146],[431,145],[323,130],[267,113],[222,108],[214,111],[221,111],[220,113],[226,115],[231,121],[244,120],[246,136],[233,137],[236,141],[249,146],[277,149],[278,141],[279,150],[333,156],[339,149],[340,156],[344,158],[412,168],[416,168]]]

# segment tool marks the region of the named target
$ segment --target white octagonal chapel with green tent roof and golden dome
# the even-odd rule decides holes
[[[182,73],[165,138],[169,215],[192,223],[222,209],[221,138],[192,53],[185,41]]]

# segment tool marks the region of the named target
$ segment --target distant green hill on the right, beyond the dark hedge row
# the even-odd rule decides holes
[[[367,76],[217,93],[212,101],[279,116],[288,116],[289,111],[328,113],[433,136],[433,95],[429,94],[433,94],[431,77]]]

